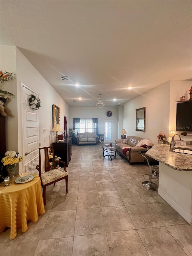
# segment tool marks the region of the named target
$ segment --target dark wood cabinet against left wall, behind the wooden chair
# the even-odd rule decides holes
[[[55,155],[61,157],[61,161],[65,162],[66,167],[68,167],[71,160],[71,144],[71,138],[66,138],[64,141],[59,143],[52,143]]]

